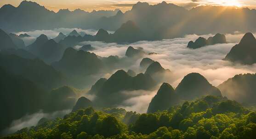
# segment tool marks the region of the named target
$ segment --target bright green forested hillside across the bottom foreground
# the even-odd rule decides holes
[[[253,139],[256,113],[206,96],[150,114],[89,107],[2,139]]]

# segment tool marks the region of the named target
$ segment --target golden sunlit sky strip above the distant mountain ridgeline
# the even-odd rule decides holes
[[[18,6],[23,0],[0,0],[0,7],[5,4]],[[44,5],[47,9],[52,11],[59,11],[59,9],[82,9],[85,11],[93,10],[115,10],[128,11],[132,5],[141,2],[148,2],[150,4],[161,3],[163,0],[31,0]],[[256,9],[256,0],[165,0],[167,3],[174,3],[181,6],[188,5],[228,5],[249,7]],[[191,6],[189,6],[191,7]]]

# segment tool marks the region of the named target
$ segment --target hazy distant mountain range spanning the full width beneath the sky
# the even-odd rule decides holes
[[[35,12],[31,13],[29,11]],[[221,12],[216,13],[216,11]],[[132,21],[136,26],[125,27],[126,30],[119,29],[114,34],[115,39],[119,41],[125,39],[125,41],[130,42],[144,39],[159,40],[182,37],[194,33],[200,35],[232,33],[235,31],[255,32],[256,25],[253,24],[256,21],[255,15],[256,10],[248,8],[197,6],[191,10],[186,10],[183,7],[167,4],[166,2],[156,5],[138,2],[133,5],[130,11],[125,13],[118,12],[118,10],[92,12],[60,10],[55,13],[34,2],[23,1],[18,7],[12,5],[1,7],[0,19],[3,22],[0,23],[0,26],[6,31],[59,27],[96,30],[102,28],[117,31],[123,23]],[[126,35],[132,32],[133,36],[129,35],[131,38],[126,39],[122,35],[124,31],[127,32]]]

